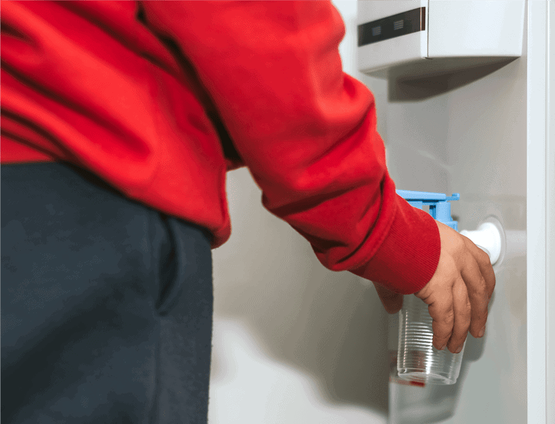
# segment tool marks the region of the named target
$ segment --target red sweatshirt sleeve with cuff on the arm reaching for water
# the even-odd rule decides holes
[[[191,61],[264,207],[330,270],[410,294],[440,252],[431,215],[395,193],[373,95],[343,73],[330,1],[143,1]]]

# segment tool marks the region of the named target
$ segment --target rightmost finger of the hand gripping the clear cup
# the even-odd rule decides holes
[[[477,247],[477,249],[479,249],[479,247]],[[466,257],[465,264],[461,270],[461,276],[466,283],[468,299],[470,300],[470,305],[472,306],[470,334],[478,338],[480,337],[481,329],[486,326],[486,320],[488,319],[488,303],[491,292],[489,291],[486,279],[482,276],[480,267],[473,255],[469,254]]]

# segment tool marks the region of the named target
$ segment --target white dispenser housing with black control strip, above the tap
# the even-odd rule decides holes
[[[524,0],[359,1],[361,72],[421,77],[522,55]]]

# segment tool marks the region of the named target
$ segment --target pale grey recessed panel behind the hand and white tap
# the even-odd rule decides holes
[[[381,134],[396,186],[460,193],[452,202],[459,230],[493,214],[509,238],[508,256],[494,267],[486,335],[468,335],[457,384],[392,383],[391,424],[527,422],[526,45],[524,34],[522,58],[504,67],[419,82],[418,90],[393,83],[383,91],[383,80],[363,78],[375,91],[378,121],[387,116]]]

